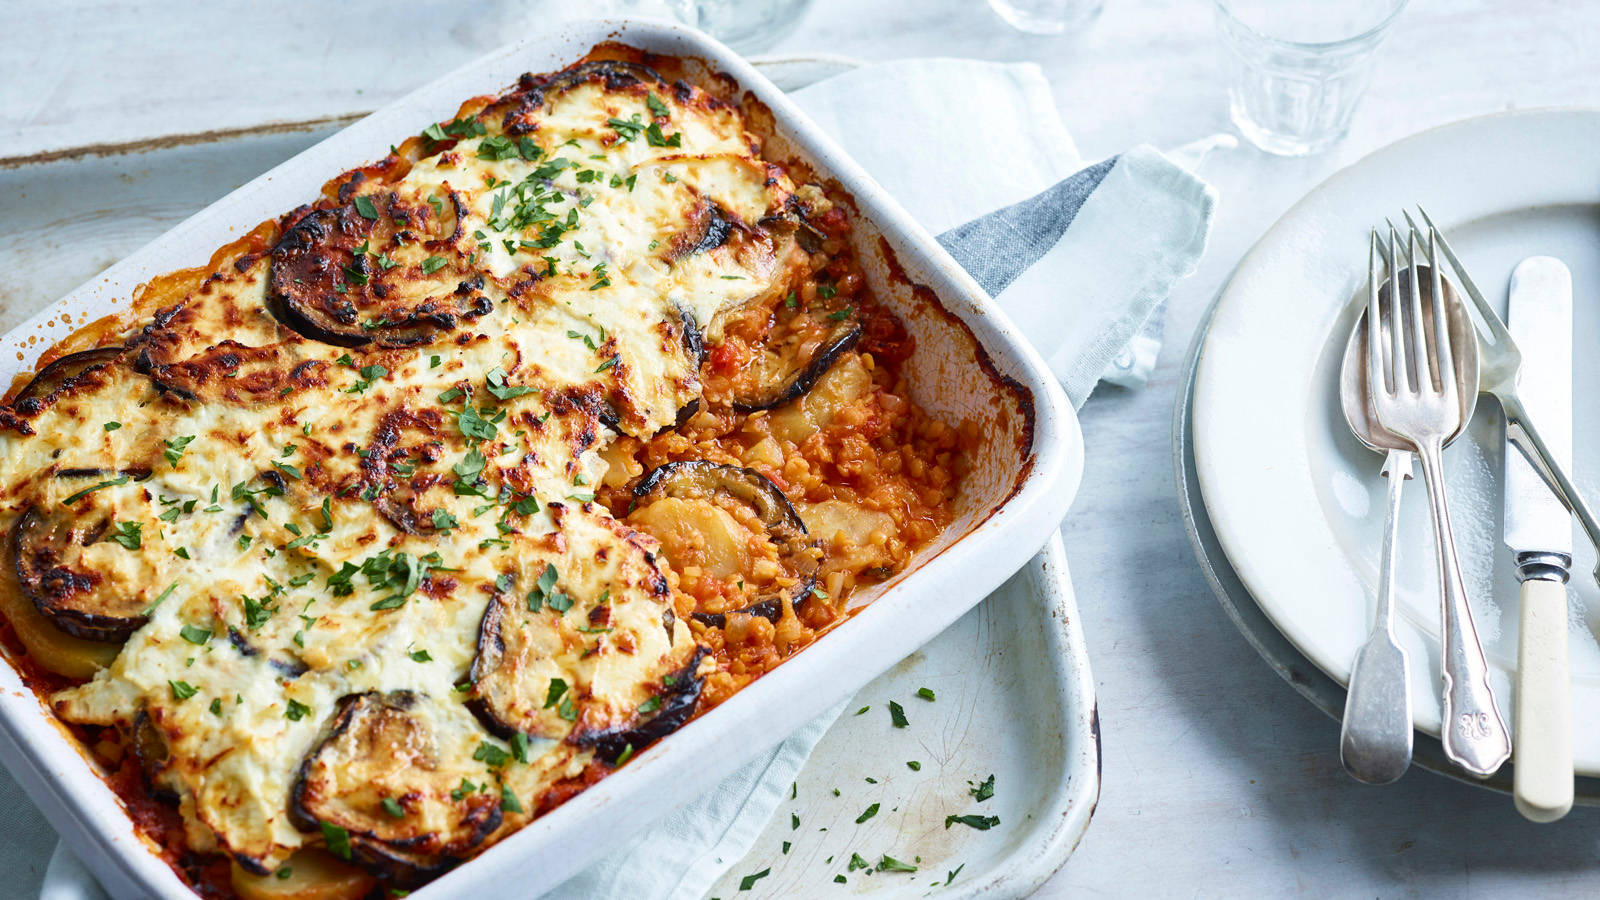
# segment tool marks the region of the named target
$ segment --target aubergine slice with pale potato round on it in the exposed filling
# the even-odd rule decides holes
[[[784,492],[755,469],[704,460],[667,463],[640,479],[634,503],[629,524],[661,541],[680,570],[694,565],[723,580],[768,585],[738,610],[694,612],[698,621],[722,626],[726,612],[776,621],[786,599],[798,604],[814,585],[821,548]],[[752,549],[752,541],[770,544],[771,552]],[[763,559],[776,562],[766,578],[758,572]]]

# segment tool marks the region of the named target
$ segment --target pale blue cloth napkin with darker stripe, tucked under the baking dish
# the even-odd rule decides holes
[[[1205,183],[1147,146],[1085,167],[1032,64],[883,62],[794,99],[1000,301],[1075,405],[1102,376],[1142,384],[1160,349],[1152,314],[1205,250],[1216,202]],[[749,852],[843,708],[549,897],[699,900]],[[5,786],[0,809],[18,809]],[[104,897],[94,890],[58,849],[42,900]]]

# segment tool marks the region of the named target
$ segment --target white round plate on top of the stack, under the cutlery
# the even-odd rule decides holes
[[[1549,253],[1573,269],[1574,330],[1600,331],[1600,112],[1538,110],[1474,119],[1386,147],[1290,210],[1240,263],[1218,301],[1195,376],[1195,468],[1206,512],[1262,612],[1312,663],[1347,681],[1378,581],[1381,458],[1349,432],[1334,372],[1365,290],[1366,229],[1422,203],[1474,280],[1504,311],[1512,266]],[[1365,303],[1365,301],[1363,301]],[[1582,344],[1579,343],[1579,348]],[[1595,496],[1600,356],[1574,367],[1576,477]],[[1446,452],[1446,480],[1491,685],[1514,721],[1517,586],[1501,544],[1499,408],[1478,404]],[[1416,725],[1438,733],[1438,588],[1424,492],[1402,512],[1398,637],[1413,660]],[[1600,591],[1578,544],[1573,578],[1573,706],[1600,705]],[[1600,773],[1600,719],[1574,719],[1574,762]]]

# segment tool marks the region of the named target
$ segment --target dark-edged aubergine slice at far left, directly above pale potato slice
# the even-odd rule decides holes
[[[11,560],[22,596],[51,625],[74,637],[115,644],[149,615],[141,594],[117,591],[82,559],[82,549],[99,541],[110,524],[96,509],[40,512],[30,506],[11,527]]]

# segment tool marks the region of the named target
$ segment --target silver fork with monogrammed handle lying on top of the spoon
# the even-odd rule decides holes
[[[1390,226],[1389,259],[1394,263],[1400,259],[1397,243],[1398,234]],[[1488,661],[1467,605],[1467,588],[1450,525],[1450,503],[1445,498],[1445,439],[1461,424],[1461,404],[1456,396],[1456,354],[1438,269],[1437,232],[1430,229],[1427,242],[1434,328],[1424,327],[1418,253],[1418,234],[1411,229],[1406,253],[1411,261],[1410,315],[1400,307],[1398,290],[1389,291],[1387,306],[1381,303],[1379,291],[1373,291],[1368,299],[1366,376],[1378,423],[1416,447],[1427,484],[1443,601],[1445,714],[1440,738],[1445,756],[1467,772],[1488,777],[1510,756],[1510,737],[1490,690]],[[1371,327],[1374,322],[1387,327]],[[1381,338],[1384,333],[1390,341]]]

